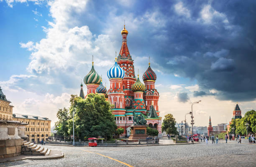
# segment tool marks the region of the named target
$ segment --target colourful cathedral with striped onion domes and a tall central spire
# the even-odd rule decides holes
[[[87,87],[87,95],[90,93],[98,93],[104,95],[113,108],[111,112],[115,115],[115,122],[118,127],[122,127],[125,131],[123,135],[130,135],[131,125],[133,125],[133,110],[137,115],[142,115],[149,127],[157,129],[161,136],[161,117],[159,116],[159,92],[155,89],[156,74],[150,67],[144,72],[142,80],[139,75],[136,78],[133,66],[133,60],[127,46],[128,30],[121,31],[122,46],[115,64],[108,72],[110,88],[102,84],[101,76],[97,74],[92,62],[92,69],[84,77],[84,84]],[[86,98],[81,83],[80,97]]]

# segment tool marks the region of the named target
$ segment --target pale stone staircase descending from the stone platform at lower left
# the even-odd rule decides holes
[[[23,155],[49,155],[50,149],[41,147],[42,145],[34,144],[33,142],[23,141],[21,146],[21,154]]]

